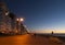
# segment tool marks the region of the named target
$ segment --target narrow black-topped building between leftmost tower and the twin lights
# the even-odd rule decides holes
[[[11,33],[15,33],[15,31],[16,31],[16,15],[14,13],[10,13],[9,16],[11,18]]]

